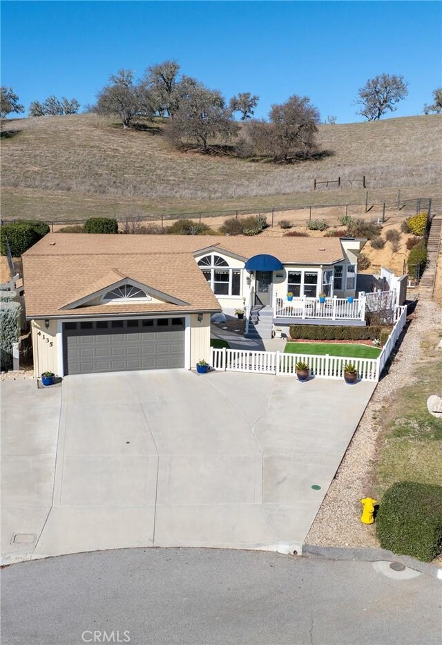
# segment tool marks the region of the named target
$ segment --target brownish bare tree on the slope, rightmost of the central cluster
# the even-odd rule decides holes
[[[308,157],[316,150],[319,121],[318,109],[309,97],[295,94],[285,103],[271,106],[269,122],[249,123],[247,137],[251,150],[276,161]]]

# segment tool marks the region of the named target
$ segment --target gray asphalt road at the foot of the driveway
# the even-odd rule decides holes
[[[376,568],[155,548],[18,563],[1,572],[1,644],[439,645],[440,581]]]

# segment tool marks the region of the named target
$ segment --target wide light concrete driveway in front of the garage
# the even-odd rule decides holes
[[[1,390],[10,562],[146,546],[299,552],[374,384],[168,370]]]

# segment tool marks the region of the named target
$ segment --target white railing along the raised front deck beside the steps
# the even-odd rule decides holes
[[[318,298],[294,298],[292,301],[276,298],[276,318],[321,318],[329,320],[365,320],[365,297],[326,298],[320,302]]]

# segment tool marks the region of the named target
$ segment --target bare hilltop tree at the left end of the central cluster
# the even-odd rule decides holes
[[[131,125],[137,115],[151,117],[148,91],[133,82],[133,71],[120,69],[110,80],[111,83],[97,95],[96,112],[119,115],[124,129]]]

